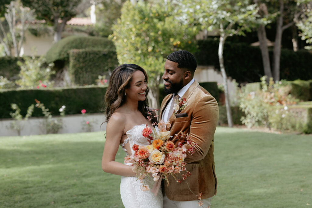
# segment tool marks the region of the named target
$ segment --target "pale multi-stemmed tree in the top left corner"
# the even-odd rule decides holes
[[[33,10],[28,7],[22,7],[19,0],[11,1],[7,5],[4,13],[9,32],[3,27],[0,21],[0,43],[2,44],[7,56],[11,56],[11,41],[14,49],[14,56],[21,55],[24,33],[29,26],[30,20],[33,19]]]

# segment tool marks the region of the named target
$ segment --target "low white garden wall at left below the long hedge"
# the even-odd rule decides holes
[[[55,116],[53,119],[61,118],[63,121],[63,128],[60,129],[59,133],[78,133],[86,132],[83,127],[86,126],[86,121],[89,121],[92,126],[92,131],[100,131],[100,125],[105,121],[104,114],[82,114],[78,115],[67,115],[65,117]],[[16,130],[11,129],[10,123],[12,119],[1,119],[0,120],[0,136],[18,136]],[[43,134],[45,131],[42,129],[41,123],[43,118],[30,118],[27,121],[22,121],[21,135],[36,135]],[[105,131],[106,123],[102,125],[102,131]]]

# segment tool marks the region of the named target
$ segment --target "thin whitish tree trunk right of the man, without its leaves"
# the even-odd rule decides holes
[[[218,55],[219,55],[220,70],[221,70],[221,74],[222,74],[222,78],[224,82],[225,107],[227,109],[227,124],[229,127],[233,127],[232,112],[231,112],[230,99],[229,99],[229,90],[227,87],[227,74],[225,73],[224,61],[223,61],[223,48],[224,48],[225,39],[226,39],[225,35],[221,33]]]

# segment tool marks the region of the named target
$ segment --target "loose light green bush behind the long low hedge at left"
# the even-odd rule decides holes
[[[39,58],[25,56],[24,62],[17,61],[17,65],[20,66],[21,70],[19,73],[20,79],[16,80],[15,83],[21,88],[51,87],[53,83],[50,82],[50,77],[55,74],[55,71],[52,71],[51,68],[54,64],[46,65],[45,62],[43,56]]]

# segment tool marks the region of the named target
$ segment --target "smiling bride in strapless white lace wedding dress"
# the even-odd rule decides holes
[[[131,163],[115,162],[119,145],[126,155],[133,154],[132,146],[149,145],[141,134],[151,122],[148,116],[147,87],[148,77],[145,70],[135,64],[123,64],[114,69],[105,94],[106,142],[102,157],[104,172],[120,175],[120,195],[125,208],[161,208],[163,195],[161,188],[157,196],[151,191],[142,191],[146,186],[137,180]],[[146,178],[145,184],[150,189],[154,185],[153,177]]]

